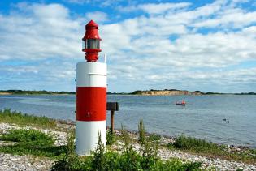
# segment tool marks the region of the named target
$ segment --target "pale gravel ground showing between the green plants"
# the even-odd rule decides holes
[[[60,123],[59,123],[60,124]],[[74,126],[65,125],[63,127],[70,127],[73,128]],[[20,126],[10,125],[8,123],[0,123],[0,132],[5,133],[10,129],[20,129]],[[33,127],[24,126],[23,129],[32,129]],[[35,128],[33,128],[35,129]],[[50,135],[54,135],[57,139],[55,142],[56,146],[63,145],[67,143],[66,137],[67,133],[62,131],[55,131],[55,130],[41,130],[42,132],[49,133]],[[116,130],[116,134],[119,134],[119,131]],[[133,135],[134,139],[137,139],[137,135]],[[174,139],[171,138],[164,138],[162,137],[160,143],[167,144],[173,142]],[[4,142],[0,141],[0,146],[4,145]],[[116,150],[122,150],[122,147],[118,143],[117,145],[112,146]],[[134,143],[134,148],[138,151],[140,146],[138,143]],[[186,152],[179,152],[176,150],[168,150],[166,148],[159,149],[158,156],[160,156],[163,160],[167,160],[169,158],[179,158],[184,161],[201,161],[203,169],[210,169],[215,168],[214,170],[236,170],[236,169],[243,169],[243,170],[255,170],[256,171],[256,164],[254,165],[247,165],[242,162],[236,161],[229,161],[229,160],[221,160],[219,158],[207,158],[205,156],[197,156],[191,155]],[[49,170],[54,160],[50,160],[48,158],[43,157],[35,157],[35,156],[12,156],[10,154],[2,154],[0,153],[0,170]]]

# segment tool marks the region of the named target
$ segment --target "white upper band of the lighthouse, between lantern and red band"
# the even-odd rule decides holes
[[[106,88],[106,63],[79,62],[76,64],[76,87]]]

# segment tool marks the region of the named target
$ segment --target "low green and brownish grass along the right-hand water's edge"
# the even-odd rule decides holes
[[[249,164],[256,163],[255,149],[249,149],[243,152],[228,152],[228,146],[226,145],[218,145],[217,143],[208,142],[205,139],[195,139],[185,135],[180,135],[177,137],[175,143],[169,143],[167,147],[196,153],[201,156],[219,157],[226,160],[243,161]]]

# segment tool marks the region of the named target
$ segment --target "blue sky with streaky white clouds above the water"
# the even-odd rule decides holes
[[[75,91],[93,19],[108,92],[256,92],[256,2],[0,1],[0,89]]]

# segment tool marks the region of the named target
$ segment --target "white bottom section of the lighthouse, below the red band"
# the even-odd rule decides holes
[[[102,143],[106,145],[106,121],[80,122],[76,121],[76,154],[88,156],[98,143],[98,133]]]

